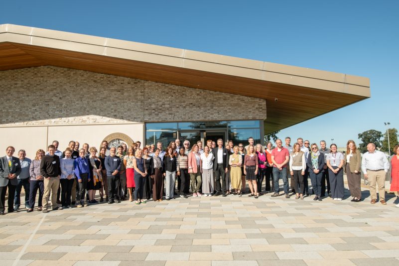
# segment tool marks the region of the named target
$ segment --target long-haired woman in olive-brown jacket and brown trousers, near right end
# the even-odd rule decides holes
[[[360,182],[362,177],[360,175],[361,154],[356,148],[356,143],[353,140],[348,140],[346,143],[346,159],[344,161],[344,172],[348,180],[349,191],[353,199],[352,202],[360,202],[362,200],[362,190],[360,189]]]

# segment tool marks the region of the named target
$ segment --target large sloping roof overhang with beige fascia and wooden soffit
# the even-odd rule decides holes
[[[267,100],[266,134],[370,97],[370,81],[365,77],[0,25],[0,70],[45,65],[262,98]]]

